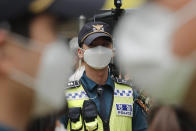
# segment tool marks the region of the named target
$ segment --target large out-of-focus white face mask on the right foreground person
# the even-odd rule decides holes
[[[187,17],[182,17],[184,21],[179,23],[178,12],[172,13],[151,3],[122,19],[116,29],[119,63],[138,87],[164,104],[182,102],[196,68],[195,55],[179,59],[172,53],[172,34],[192,18],[187,14],[190,12],[186,12]]]

